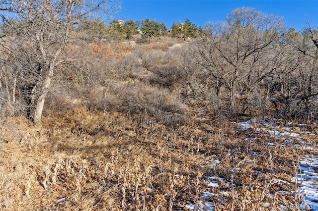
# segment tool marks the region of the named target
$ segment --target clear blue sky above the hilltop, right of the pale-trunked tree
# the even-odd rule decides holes
[[[170,28],[174,21],[190,19],[197,26],[206,22],[224,21],[237,7],[253,7],[267,14],[284,18],[288,28],[302,31],[306,18],[318,28],[318,0],[122,0],[122,9],[114,19],[155,19]]]

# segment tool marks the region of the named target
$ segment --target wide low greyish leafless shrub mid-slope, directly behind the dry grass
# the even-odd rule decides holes
[[[105,98],[93,98],[88,106],[98,110],[146,113],[165,124],[183,121],[187,110],[177,93],[143,83],[117,86]]]

